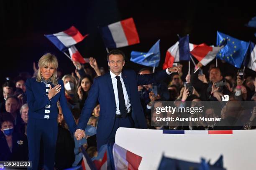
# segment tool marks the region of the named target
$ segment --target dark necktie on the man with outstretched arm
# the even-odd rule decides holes
[[[118,80],[117,87],[118,87],[119,110],[120,110],[121,116],[126,117],[127,111],[126,111],[125,100],[123,95],[122,83],[119,76],[116,76],[115,78]]]

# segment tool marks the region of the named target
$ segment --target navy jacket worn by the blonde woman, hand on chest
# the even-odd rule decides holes
[[[69,126],[70,132],[74,133],[76,123],[72,112],[67,106],[63,81],[58,80],[58,84],[61,85],[61,91],[49,100],[46,95],[46,85],[43,82],[37,82],[35,77],[26,81],[28,116],[34,119],[44,119],[44,115],[49,115],[49,119],[56,119],[59,114],[57,107],[57,101],[59,100],[64,119]],[[54,85],[51,84],[51,87],[54,87]],[[51,107],[46,108],[46,105],[51,105]],[[45,110],[50,110],[50,113],[45,113]]]

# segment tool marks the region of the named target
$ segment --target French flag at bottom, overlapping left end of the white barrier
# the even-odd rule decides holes
[[[138,170],[142,157],[136,155],[117,144],[113,146],[115,170]]]

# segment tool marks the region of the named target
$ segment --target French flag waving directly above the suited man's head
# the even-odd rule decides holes
[[[128,18],[101,29],[105,47],[118,48],[140,42],[133,18]]]

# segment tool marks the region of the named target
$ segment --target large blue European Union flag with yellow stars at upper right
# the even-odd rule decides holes
[[[237,68],[240,68],[246,55],[249,43],[217,31],[217,46],[223,44],[223,41],[227,41],[227,44],[217,54],[217,58],[224,60]]]

